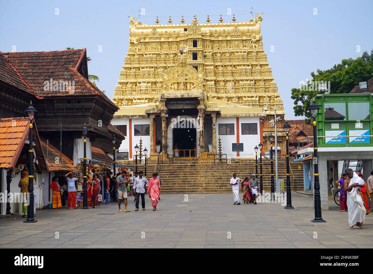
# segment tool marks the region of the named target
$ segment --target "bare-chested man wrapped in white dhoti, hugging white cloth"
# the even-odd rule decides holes
[[[350,229],[358,226],[363,229],[361,223],[365,220],[366,209],[360,196],[360,187],[364,187],[361,179],[352,169],[347,170],[348,179],[343,182],[343,189],[347,192],[348,224]]]

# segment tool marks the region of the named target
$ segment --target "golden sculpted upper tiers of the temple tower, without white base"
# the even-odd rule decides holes
[[[151,103],[164,89],[195,89],[188,83],[165,84],[183,48],[186,63],[197,70],[209,97],[252,107],[271,104],[284,114],[263,49],[261,21],[260,14],[247,22],[198,23],[194,18],[190,24],[173,24],[170,19],[166,25],[158,19],[155,25],[145,25],[131,18],[129,48],[114,103],[119,107]]]

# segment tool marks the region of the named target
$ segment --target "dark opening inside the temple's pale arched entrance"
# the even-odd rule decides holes
[[[173,129],[173,147],[175,147],[176,144],[178,145],[179,157],[189,157],[189,151],[183,151],[183,149],[195,149],[196,138],[197,130],[195,128]],[[193,152],[191,153],[195,154]]]

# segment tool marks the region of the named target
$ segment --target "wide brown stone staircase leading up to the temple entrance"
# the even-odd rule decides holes
[[[295,177],[294,185],[292,176],[290,176],[291,190],[301,191],[304,189],[303,169],[298,169],[298,163],[290,164]],[[131,167],[134,172],[135,166],[132,161],[125,165]],[[155,162],[148,161],[148,179],[151,178],[154,168]],[[144,171],[144,165],[138,165],[138,171],[140,170]],[[273,170],[275,174],[275,162]],[[270,160],[263,159],[263,190],[266,192],[270,192],[270,171]],[[233,159],[228,164],[214,164],[211,159],[175,159],[173,164],[169,164],[167,160],[163,164],[157,165],[157,172],[162,179],[162,193],[228,193],[232,192],[232,187],[229,185],[232,174],[236,173],[237,177],[242,180],[249,177],[255,173],[255,160]],[[258,174],[260,174],[259,163]],[[284,159],[278,160],[278,178],[285,179],[286,190],[286,162]]]

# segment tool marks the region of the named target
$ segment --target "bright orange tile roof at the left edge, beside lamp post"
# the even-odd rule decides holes
[[[25,117],[0,119],[0,168],[15,166],[29,133]]]

